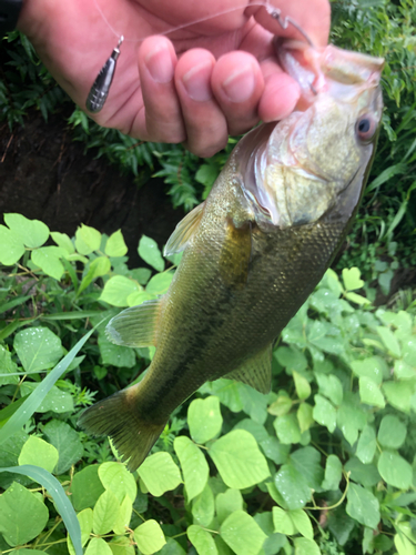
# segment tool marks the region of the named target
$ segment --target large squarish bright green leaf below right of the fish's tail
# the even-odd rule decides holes
[[[242,490],[270,476],[257,442],[245,430],[234,430],[216,440],[209,453],[229,487]]]

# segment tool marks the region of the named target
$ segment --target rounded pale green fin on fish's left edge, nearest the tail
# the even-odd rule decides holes
[[[105,327],[108,339],[116,345],[155,346],[160,304],[161,299],[155,299],[120,312]]]

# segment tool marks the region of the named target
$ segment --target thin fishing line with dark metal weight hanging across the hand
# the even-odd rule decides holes
[[[108,28],[111,30],[111,32],[119,39],[118,46],[114,48],[112,51],[110,58],[106,60],[104,65],[101,68],[99,74],[95,78],[95,81],[93,82],[90,92],[87,98],[87,109],[91,113],[98,113],[100,110],[102,110],[108,95],[110,93],[110,88],[111,83],[113,81],[114,72],[115,72],[115,67],[116,67],[116,60],[120,56],[120,47],[123,42],[142,42],[146,37],[143,37],[142,39],[125,39],[123,34],[120,34],[115,31],[115,29],[111,26],[110,21],[106,19],[104,12],[102,11],[100,4],[98,3],[98,0],[94,0],[95,8],[98,12],[100,13],[101,18],[108,26]],[[213,16],[205,16],[203,18],[196,19],[194,21],[191,21],[189,23],[183,23],[181,26],[173,27],[169,29],[168,31],[162,31],[158,34],[160,36],[165,36],[169,33],[172,33],[174,31],[179,31],[181,29],[186,29],[187,27],[195,26],[197,23],[202,23],[203,21],[207,21],[210,19],[220,17],[220,16],[225,16],[227,13],[231,13],[233,11],[236,11],[241,8],[250,8],[250,7],[264,7],[267,10],[267,13],[277,21],[277,23],[281,26],[282,29],[287,29],[287,27],[291,24],[297,31],[306,39],[306,42],[313,47],[313,42],[311,38],[307,36],[307,33],[302,29],[302,27],[296,23],[291,17],[282,17],[282,12],[278,8],[274,8],[270,4],[270,0],[265,0],[264,2],[250,2],[248,4],[242,4],[242,6],[234,6],[233,8],[229,8],[226,10],[220,11]]]

